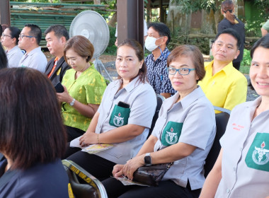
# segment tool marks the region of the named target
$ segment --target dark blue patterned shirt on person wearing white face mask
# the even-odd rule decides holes
[[[153,54],[149,54],[145,59],[147,65],[147,78],[155,93],[176,93],[173,89],[167,73],[167,57],[169,51],[166,47],[164,52],[156,61],[154,61]]]

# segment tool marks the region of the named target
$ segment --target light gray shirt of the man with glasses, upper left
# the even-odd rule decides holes
[[[36,47],[34,50],[29,53],[26,52],[23,55],[18,66],[27,66],[33,69],[38,69],[38,71],[44,73],[47,66],[47,58],[41,51],[41,47]]]

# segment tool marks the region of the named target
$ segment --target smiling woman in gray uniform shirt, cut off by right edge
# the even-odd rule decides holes
[[[251,85],[261,95],[234,107],[200,197],[269,196],[269,35],[251,49]]]

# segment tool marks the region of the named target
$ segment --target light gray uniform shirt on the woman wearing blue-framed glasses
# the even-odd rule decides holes
[[[189,180],[191,189],[196,190],[205,182],[203,165],[216,134],[214,108],[200,86],[176,103],[178,96],[179,93],[176,93],[166,99],[161,106],[159,118],[152,132],[152,135],[158,138],[154,151],[166,148],[161,144],[161,134],[168,121],[183,122],[178,142],[197,148],[190,156],[175,161],[163,180],[173,180],[182,187],[186,187]]]

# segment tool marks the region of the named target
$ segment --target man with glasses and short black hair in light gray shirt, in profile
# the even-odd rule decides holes
[[[19,66],[27,66],[38,71],[45,72],[47,58],[39,46],[41,30],[38,25],[26,24],[18,38],[18,47],[25,50],[25,54],[19,62]]]

